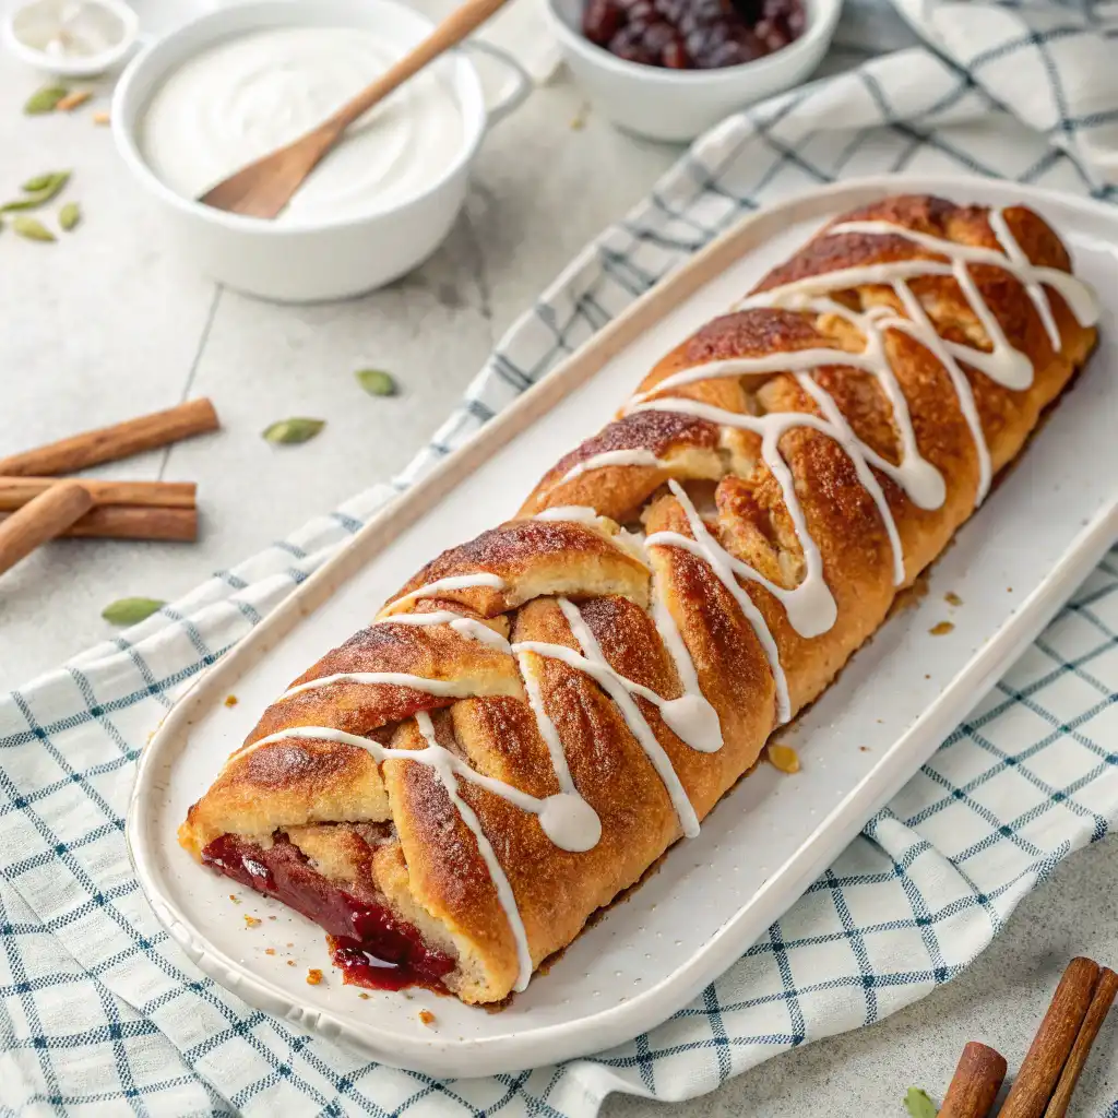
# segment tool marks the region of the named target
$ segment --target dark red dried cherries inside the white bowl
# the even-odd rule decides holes
[[[631,63],[719,69],[804,34],[802,0],[587,0],[582,34]]]

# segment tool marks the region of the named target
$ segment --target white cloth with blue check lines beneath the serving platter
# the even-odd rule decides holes
[[[0,699],[0,1111],[586,1118],[609,1091],[698,1095],[947,982],[1060,859],[1107,833],[1118,817],[1118,755],[1107,746],[1118,740],[1116,553],[735,967],[667,1023],[594,1059],[456,1082],[362,1061],[200,974],[154,920],[125,853],[136,756],[182,684],[396,490],[740,215],[845,176],[902,170],[1114,197],[1115,0],[896,3],[925,45],[863,60],[699,141],[517,323],[394,486]],[[892,16],[865,2],[851,15],[847,54]]]

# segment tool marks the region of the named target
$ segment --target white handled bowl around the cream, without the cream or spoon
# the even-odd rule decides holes
[[[136,182],[162,207],[184,258],[205,274],[262,299],[311,303],[372,291],[410,272],[442,244],[466,193],[471,163],[486,126],[528,95],[530,80],[512,59],[512,91],[486,107],[471,60],[452,51],[434,63],[457,96],[465,122],[462,151],[420,195],[367,216],[314,222],[264,221],[181,198],[144,161],[138,142],[144,110],[163,79],[211,44],[264,27],[358,27],[382,31],[402,47],[430,34],[424,16],[394,0],[254,0],[211,11],[146,47],[113,96],[116,146]],[[472,46],[499,54],[480,44]],[[370,75],[370,79],[376,75]]]

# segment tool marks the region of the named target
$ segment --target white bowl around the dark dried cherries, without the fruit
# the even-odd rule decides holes
[[[581,31],[584,0],[547,0],[563,57],[595,108],[626,132],[693,140],[730,113],[803,82],[827,53],[842,0],[804,0],[807,28],[783,50],[723,69],[675,70],[626,61]]]

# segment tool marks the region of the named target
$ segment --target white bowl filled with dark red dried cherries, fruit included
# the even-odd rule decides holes
[[[548,0],[567,65],[619,127],[692,140],[803,82],[842,0]]]

